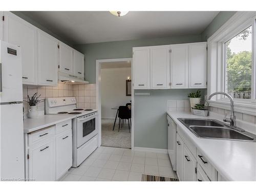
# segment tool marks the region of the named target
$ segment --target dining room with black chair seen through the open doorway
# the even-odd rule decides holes
[[[131,148],[131,61],[101,63],[101,146]]]

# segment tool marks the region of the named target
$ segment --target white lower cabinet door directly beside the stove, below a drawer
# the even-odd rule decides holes
[[[72,166],[72,130],[56,136],[56,180]]]

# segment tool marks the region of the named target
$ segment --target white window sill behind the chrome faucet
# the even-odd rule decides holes
[[[225,100],[210,101],[209,106],[230,111],[230,101],[225,101]],[[253,102],[241,103],[241,102],[234,101],[234,111],[256,116],[256,103],[253,103]]]

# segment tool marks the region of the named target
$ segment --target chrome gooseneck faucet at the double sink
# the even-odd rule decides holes
[[[208,99],[205,101],[205,104],[204,104],[204,105],[205,105],[205,106],[208,106],[211,97],[212,97],[212,96],[215,96],[215,95],[219,95],[219,94],[225,95],[225,96],[227,96],[227,97],[230,99],[231,115],[230,115],[230,118],[226,118],[227,115],[225,115],[223,121],[229,122],[231,127],[237,128],[236,116],[234,115],[234,100],[233,100],[233,98],[232,98],[229,94],[227,94],[227,93],[225,93],[225,92],[215,92],[215,93],[212,93],[212,94],[208,97]]]

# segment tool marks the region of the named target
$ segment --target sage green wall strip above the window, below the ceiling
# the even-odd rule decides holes
[[[201,40],[207,41],[207,39],[214,34],[227,20],[233,16],[236,11],[220,11],[219,14],[212,20],[212,22],[201,33]]]

